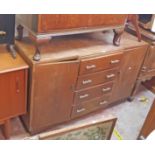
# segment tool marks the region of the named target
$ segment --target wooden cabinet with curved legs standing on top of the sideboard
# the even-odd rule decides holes
[[[23,26],[35,42],[34,60],[40,60],[41,46],[52,37],[114,29],[113,43],[120,44],[127,15],[125,14],[39,14],[17,15],[18,40],[22,40]]]

